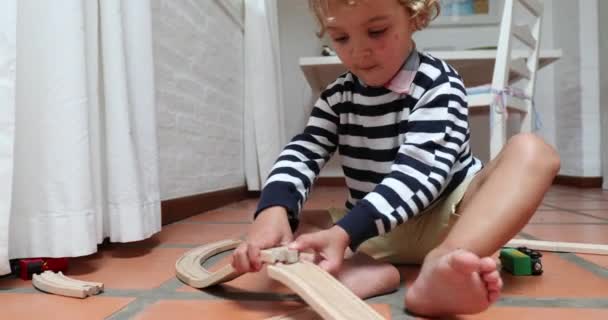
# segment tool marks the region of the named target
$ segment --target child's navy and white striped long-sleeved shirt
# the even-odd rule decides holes
[[[330,84],[304,132],[279,155],[256,215],[283,206],[290,222],[297,221],[313,181],[338,150],[350,211],[337,225],[355,250],[481,170],[471,154],[466,93],[458,73],[413,50],[395,78],[409,78],[406,90],[366,86],[350,72]]]

